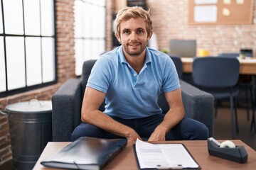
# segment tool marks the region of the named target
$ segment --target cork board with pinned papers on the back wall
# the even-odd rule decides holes
[[[188,24],[252,24],[254,1],[188,0]]]

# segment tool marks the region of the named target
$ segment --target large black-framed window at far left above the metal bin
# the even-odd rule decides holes
[[[54,0],[0,2],[0,97],[54,83]]]

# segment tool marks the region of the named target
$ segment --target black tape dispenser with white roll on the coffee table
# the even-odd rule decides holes
[[[231,141],[225,141],[222,144],[220,144],[220,142],[215,140],[213,137],[208,138],[207,145],[209,154],[215,157],[228,159],[233,162],[247,162],[248,154],[245,147],[235,146],[235,144]]]

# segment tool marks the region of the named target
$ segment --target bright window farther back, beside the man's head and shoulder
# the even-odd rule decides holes
[[[75,74],[82,74],[82,63],[105,52],[105,0],[75,0]]]

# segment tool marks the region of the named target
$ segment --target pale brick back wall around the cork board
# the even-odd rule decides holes
[[[198,48],[210,55],[252,48],[256,55],[256,1],[251,25],[188,26],[188,1],[147,0],[159,50],[169,48],[170,39],[196,39]]]

